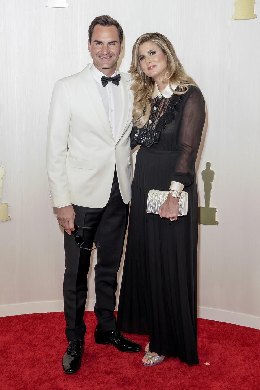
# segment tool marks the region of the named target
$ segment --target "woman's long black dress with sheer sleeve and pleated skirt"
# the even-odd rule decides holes
[[[156,108],[154,108],[156,107]],[[151,100],[150,121],[133,128],[136,156],[118,328],[150,336],[150,351],[198,363],[196,267],[198,195],[195,160],[205,121],[200,90]],[[188,213],[170,222],[148,214],[149,190],[184,184]]]

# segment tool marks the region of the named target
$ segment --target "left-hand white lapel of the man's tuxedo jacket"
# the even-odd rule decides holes
[[[94,80],[91,72],[90,72],[90,66],[92,64],[88,64],[83,71],[81,71],[81,78],[83,79],[87,93],[89,95],[90,101],[94,107],[94,110],[96,111],[97,117],[99,118],[99,121],[101,122],[103,128],[108,133],[109,137],[114,141],[113,133],[111,130],[110,122],[108,119],[108,115],[106,113],[106,109],[103,104],[103,100],[99,94],[99,90],[97,89],[96,81]],[[123,93],[122,93],[123,95]],[[124,106],[124,104],[123,104]]]

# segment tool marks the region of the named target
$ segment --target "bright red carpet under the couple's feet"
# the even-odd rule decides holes
[[[143,367],[141,352],[95,344],[94,312],[85,313],[85,322],[82,367],[66,375],[61,367],[67,346],[64,313],[0,318],[1,390],[260,389],[260,330],[198,319],[199,365],[170,358]],[[129,339],[143,347],[148,341],[140,335]]]

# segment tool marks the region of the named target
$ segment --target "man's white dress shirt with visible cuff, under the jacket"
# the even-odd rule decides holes
[[[99,94],[103,100],[103,104],[110,122],[112,134],[114,140],[116,141],[118,136],[121,135],[119,129],[119,123],[122,115],[122,95],[121,95],[120,82],[119,85],[115,85],[112,82],[108,82],[106,87],[103,87],[103,85],[101,84],[101,77],[106,75],[100,72],[94,66],[94,64],[92,64],[90,71],[92,73],[94,80],[96,81],[97,89],[99,90]],[[118,71],[116,70],[111,77],[116,76],[117,74]],[[58,206],[57,208],[70,206],[70,205],[71,203],[64,204],[63,206]]]

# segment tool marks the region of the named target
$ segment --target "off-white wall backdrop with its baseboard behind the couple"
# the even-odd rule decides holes
[[[0,315],[63,310],[63,233],[51,208],[45,168],[46,126],[56,80],[91,61],[90,21],[110,14],[124,29],[120,69],[127,71],[138,36],[158,31],[173,43],[207,103],[208,126],[198,165],[215,171],[211,206],[218,226],[200,226],[199,316],[260,328],[260,2],[254,20],[232,20],[233,0],[1,0]],[[259,4],[258,4],[259,3]],[[94,306],[94,263],[88,310]],[[122,267],[119,272],[119,280]]]

